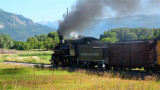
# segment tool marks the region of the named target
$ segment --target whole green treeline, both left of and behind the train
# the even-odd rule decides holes
[[[160,28],[117,28],[105,31],[100,35],[102,42],[114,43],[116,41],[145,40],[154,39],[160,35]],[[14,41],[9,35],[0,34],[0,48],[29,50],[29,49],[47,49],[52,50],[59,42],[57,32],[50,32],[47,35],[42,34],[30,37],[26,42]]]

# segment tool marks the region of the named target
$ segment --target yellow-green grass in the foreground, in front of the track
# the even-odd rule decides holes
[[[0,64],[0,90],[159,90],[160,82],[153,76],[145,80],[122,79],[106,73],[104,76],[85,71],[62,69],[41,70]]]

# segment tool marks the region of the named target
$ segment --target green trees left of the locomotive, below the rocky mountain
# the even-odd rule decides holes
[[[9,35],[0,34],[0,48],[29,50],[29,49],[53,49],[59,42],[57,32],[50,32],[30,37],[26,42],[14,41]]]

